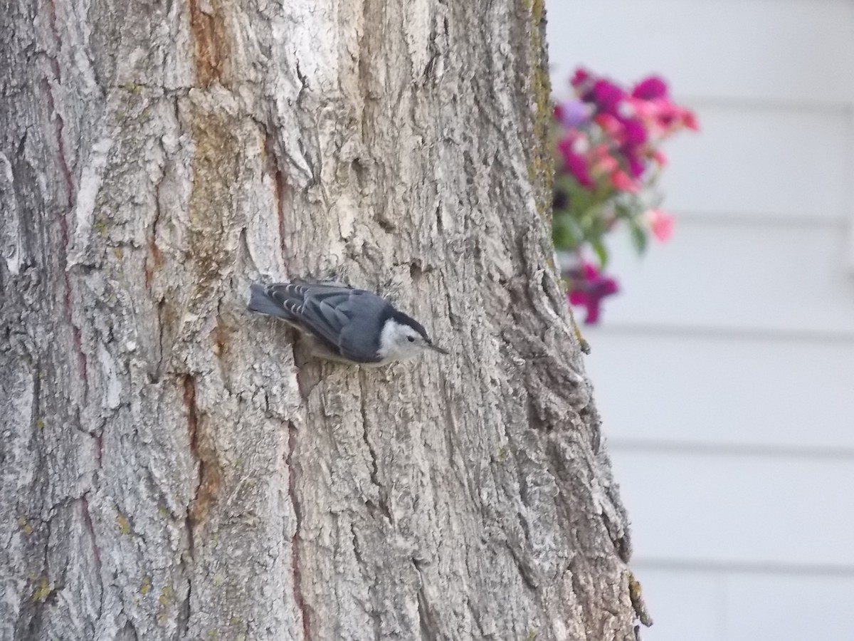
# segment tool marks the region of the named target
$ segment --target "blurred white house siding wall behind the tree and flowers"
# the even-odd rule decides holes
[[[547,0],[555,97],[661,74],[667,244],[583,327],[645,641],[854,639],[854,2]],[[583,317],[583,316],[582,316]]]

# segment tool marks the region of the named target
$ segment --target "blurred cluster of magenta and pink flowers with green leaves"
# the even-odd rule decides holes
[[[587,307],[586,322],[594,323],[602,297],[617,291],[617,282],[600,273],[608,260],[605,234],[622,221],[639,252],[650,234],[670,238],[673,220],[658,209],[655,190],[666,163],[660,144],[681,130],[696,131],[698,124],[691,111],[670,100],[658,76],[626,90],[578,69],[571,84],[576,97],[554,110],[553,239],[573,256],[566,273],[570,303]],[[598,266],[588,259],[591,250]]]

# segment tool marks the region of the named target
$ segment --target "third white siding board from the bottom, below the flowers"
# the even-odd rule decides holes
[[[854,340],[638,335],[607,326],[585,338],[615,446],[746,446],[769,456],[844,450],[854,461]]]

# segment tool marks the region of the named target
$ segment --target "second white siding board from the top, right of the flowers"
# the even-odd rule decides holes
[[[846,220],[851,115],[813,109],[701,107],[703,131],[666,151],[664,209]]]

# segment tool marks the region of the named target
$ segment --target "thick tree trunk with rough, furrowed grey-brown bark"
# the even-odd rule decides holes
[[[541,0],[2,13],[2,638],[634,638]],[[453,356],[244,311],[331,274]]]

